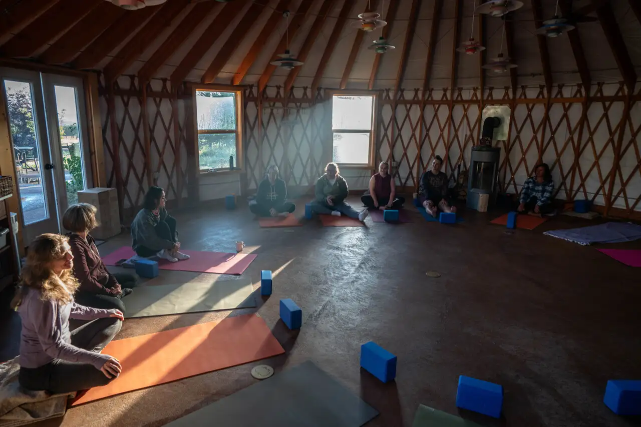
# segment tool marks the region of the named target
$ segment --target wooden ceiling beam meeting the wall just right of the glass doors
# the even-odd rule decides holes
[[[181,11],[187,7],[188,3],[189,0],[173,0],[160,6],[160,10],[104,67],[104,77],[107,83],[115,81],[129,68],[129,65],[140,58],[140,55],[146,51],[147,47],[162,35],[163,31],[171,26],[174,20],[178,19]],[[187,22],[187,25],[191,25],[190,22]]]

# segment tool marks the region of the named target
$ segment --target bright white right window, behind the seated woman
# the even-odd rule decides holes
[[[333,95],[333,161],[340,165],[373,167],[375,104],[374,95]]]

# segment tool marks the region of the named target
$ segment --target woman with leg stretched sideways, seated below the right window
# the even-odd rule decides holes
[[[340,216],[345,214],[349,218],[358,218],[359,221],[364,221],[369,215],[367,209],[363,209],[360,213],[354,210],[347,202],[347,181],[338,175],[338,165],[336,163],[328,163],[325,166],[325,174],[316,181],[315,187],[315,200],[312,202],[312,211],[317,214],[331,214]]]

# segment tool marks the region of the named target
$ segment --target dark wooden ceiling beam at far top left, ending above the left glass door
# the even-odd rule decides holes
[[[67,31],[103,1],[59,1],[6,42],[0,49],[0,54],[9,58],[29,58],[33,56],[38,49]]]

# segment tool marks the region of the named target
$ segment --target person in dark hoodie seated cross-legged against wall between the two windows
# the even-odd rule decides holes
[[[296,205],[287,202],[287,186],[278,177],[278,166],[267,168],[267,177],[258,184],[256,198],[249,203],[249,210],[258,216],[287,216]]]

